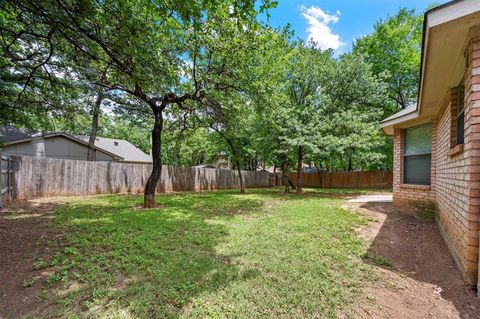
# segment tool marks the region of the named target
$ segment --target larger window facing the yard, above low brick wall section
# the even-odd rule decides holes
[[[430,185],[431,124],[405,129],[403,154],[403,182],[405,184]]]

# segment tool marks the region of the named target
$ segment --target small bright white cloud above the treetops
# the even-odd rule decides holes
[[[345,43],[340,40],[340,35],[334,34],[330,25],[335,24],[340,19],[340,11],[330,15],[319,7],[300,7],[302,16],[307,20],[308,41],[317,43],[320,49],[338,49]]]

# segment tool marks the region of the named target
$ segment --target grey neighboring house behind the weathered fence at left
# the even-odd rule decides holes
[[[0,127],[2,152],[10,155],[87,160],[88,136],[65,132],[36,132],[10,126]],[[149,155],[125,140],[98,137],[95,140],[97,161],[151,163]]]

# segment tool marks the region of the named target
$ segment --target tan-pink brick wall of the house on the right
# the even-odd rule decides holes
[[[432,184],[403,185],[403,130],[394,133],[394,205],[436,204],[437,222],[464,279],[477,282],[480,224],[480,37],[467,48],[465,144],[456,143],[457,91],[432,121]]]

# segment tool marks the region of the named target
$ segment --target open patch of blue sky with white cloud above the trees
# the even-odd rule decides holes
[[[279,0],[270,11],[270,25],[292,25],[295,36],[313,37],[322,49],[348,52],[355,38],[371,33],[380,19],[394,15],[399,8],[424,12],[432,3],[446,0]]]

